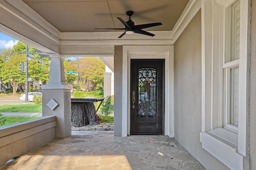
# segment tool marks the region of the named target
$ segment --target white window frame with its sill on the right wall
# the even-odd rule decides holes
[[[230,169],[249,167],[248,98],[250,4],[240,0],[238,131],[225,127],[224,71],[226,9],[236,0],[202,0],[202,147]],[[231,63],[233,65],[234,63]],[[236,63],[238,64],[238,63]]]

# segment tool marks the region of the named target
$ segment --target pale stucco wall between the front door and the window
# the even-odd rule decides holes
[[[229,169],[202,149],[201,10],[174,43],[174,138],[208,170]]]

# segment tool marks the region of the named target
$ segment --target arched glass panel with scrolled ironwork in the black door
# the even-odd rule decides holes
[[[137,117],[157,117],[157,74],[152,66],[138,68]]]

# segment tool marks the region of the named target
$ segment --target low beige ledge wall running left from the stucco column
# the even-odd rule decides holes
[[[0,166],[56,138],[56,116],[0,127]]]

